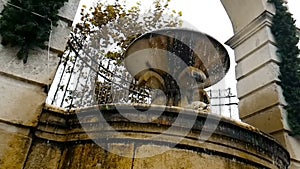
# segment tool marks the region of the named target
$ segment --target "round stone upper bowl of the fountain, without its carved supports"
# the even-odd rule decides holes
[[[130,44],[124,55],[125,66],[136,79],[149,69],[177,78],[186,67],[193,67],[205,73],[207,78],[201,82],[204,88],[219,82],[230,66],[226,49],[216,39],[180,28],[143,34]]]

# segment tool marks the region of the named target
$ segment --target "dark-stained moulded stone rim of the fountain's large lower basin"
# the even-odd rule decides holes
[[[147,110],[149,107],[136,106],[136,108]],[[120,109],[122,110],[122,115],[118,113]],[[192,150],[202,153],[202,150],[205,150],[205,152],[209,151],[216,153],[216,155],[224,154],[225,157],[232,156],[232,158],[239,160],[247,156],[247,161],[252,161],[258,166],[268,166],[269,168],[273,168],[274,164],[281,166],[288,163],[288,154],[280,144],[252,126],[227,119],[220,120],[220,117],[214,115],[208,116],[208,114],[200,112],[199,114],[195,114],[194,111],[185,111],[176,109],[175,107],[165,109],[158,119],[151,118],[152,115],[156,115],[156,111],[160,112],[162,109],[163,106],[156,108],[152,105],[151,112],[141,112],[138,116],[136,112],[132,112],[132,107],[128,107],[128,105],[119,105],[118,111],[116,111],[113,105],[103,105],[81,109],[78,112],[66,113],[65,115],[62,115],[62,113],[58,113],[58,115],[55,112],[50,112],[48,109],[47,112],[44,112],[48,114],[48,118],[41,118],[35,134],[39,138],[54,142],[68,144],[80,142],[83,145],[85,145],[84,142],[93,140],[97,144],[137,143],[137,145],[147,145],[149,143],[151,146],[156,145],[161,147],[163,145],[175,146],[178,140],[181,140],[179,144],[184,151]],[[173,124],[175,120],[177,121],[179,112],[183,119]],[[99,113],[102,113],[103,118],[101,118]],[[141,118],[142,121],[145,119],[150,119],[150,121],[138,123],[130,122],[125,118],[133,116]],[[192,123],[194,116],[196,119]],[[199,141],[200,132],[202,130],[208,131],[213,125],[204,126],[207,117],[211,118],[209,121],[212,123],[218,119],[220,122],[213,135],[206,140],[206,144],[203,144]],[[65,118],[65,120],[60,118]],[[113,130],[101,126],[104,122],[109,123]],[[181,138],[182,132],[186,130],[186,123],[192,123],[192,130],[184,138]],[[66,124],[68,127],[58,124]],[[171,125],[176,129],[172,130],[171,133],[165,133],[165,130]],[[118,131],[118,133],[116,134],[115,131]],[[161,136],[157,137],[157,134]],[[222,140],[222,143],[219,143],[220,140]],[[278,153],[280,157],[275,158],[279,161],[275,163],[272,160],[274,157],[273,151],[280,152]],[[228,152],[231,152],[230,155]]]

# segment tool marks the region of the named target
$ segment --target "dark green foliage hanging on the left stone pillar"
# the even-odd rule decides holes
[[[10,0],[1,12],[0,34],[3,45],[17,45],[19,59],[27,62],[28,51],[45,47],[51,23],[56,26],[58,10],[67,0]]]

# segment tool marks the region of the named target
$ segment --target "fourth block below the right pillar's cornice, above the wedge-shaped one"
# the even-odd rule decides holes
[[[240,99],[240,118],[243,119],[263,109],[280,104],[285,104],[282,89],[277,84],[272,83]]]

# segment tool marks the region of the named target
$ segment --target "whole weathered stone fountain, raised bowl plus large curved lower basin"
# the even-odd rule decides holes
[[[229,69],[229,56],[214,38],[157,30],[136,39],[124,56],[138,85],[162,91],[153,104],[71,112],[47,106],[25,168],[288,168],[289,153],[269,135],[207,107],[191,107],[209,105],[199,93]]]

